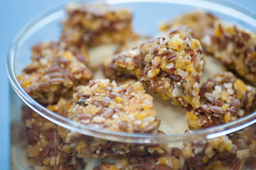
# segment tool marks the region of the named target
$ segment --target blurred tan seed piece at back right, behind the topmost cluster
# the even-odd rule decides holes
[[[194,11],[174,18],[174,21],[162,23],[160,25],[160,30],[167,30],[173,26],[189,26],[194,32],[191,36],[201,40],[205,34],[213,30],[215,21],[218,21],[218,18],[211,13]]]

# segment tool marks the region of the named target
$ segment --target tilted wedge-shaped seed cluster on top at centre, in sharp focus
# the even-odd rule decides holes
[[[135,77],[145,89],[170,98],[174,105],[199,107],[199,82],[203,67],[199,40],[168,32],[140,47],[113,57],[105,69],[107,77]]]

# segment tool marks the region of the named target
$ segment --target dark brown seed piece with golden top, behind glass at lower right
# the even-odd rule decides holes
[[[192,140],[192,139],[191,139]],[[239,169],[240,159],[226,135],[199,142],[184,142],[185,169]]]

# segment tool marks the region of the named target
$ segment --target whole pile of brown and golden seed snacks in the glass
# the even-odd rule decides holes
[[[202,11],[162,23],[152,37],[134,33],[132,20],[126,8],[69,4],[60,39],[34,45],[18,81],[50,111],[111,132],[165,135],[151,94],[187,111],[186,132],[255,111],[256,33]],[[108,57],[90,53],[111,45]],[[228,71],[202,82],[206,55]],[[79,134],[28,106],[21,112],[31,169],[256,168],[256,128],[182,147],[141,145]]]

